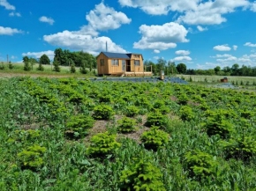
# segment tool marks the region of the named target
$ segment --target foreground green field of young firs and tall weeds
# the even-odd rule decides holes
[[[255,190],[256,94],[0,79],[0,190]]]

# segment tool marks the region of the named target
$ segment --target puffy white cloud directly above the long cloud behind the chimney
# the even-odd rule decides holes
[[[101,3],[95,5],[95,9],[87,14],[87,21],[94,30],[107,31],[117,29],[122,24],[130,24],[132,19],[128,18],[124,12],[115,11]]]

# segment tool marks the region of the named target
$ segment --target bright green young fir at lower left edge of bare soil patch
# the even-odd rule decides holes
[[[87,150],[88,155],[104,157],[114,152],[121,146],[116,141],[116,135],[106,133],[99,133],[91,138],[91,145]]]

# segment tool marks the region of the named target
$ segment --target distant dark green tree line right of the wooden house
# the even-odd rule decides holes
[[[166,62],[164,59],[159,59],[156,63],[152,61],[145,61],[144,65],[152,66],[152,72],[155,76],[160,74],[163,70],[165,75],[172,74],[184,74],[184,75],[209,75],[209,76],[243,76],[243,77],[256,77],[256,67],[245,66],[241,67],[235,63],[232,67],[226,66],[221,69],[220,66],[216,66],[214,69],[209,70],[194,70],[187,69],[184,63]]]

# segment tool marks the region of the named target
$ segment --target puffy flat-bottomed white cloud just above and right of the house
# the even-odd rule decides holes
[[[166,50],[176,48],[177,42],[189,41],[185,38],[188,31],[184,26],[173,22],[162,26],[142,25],[139,27],[139,33],[142,38],[133,43],[133,48]]]

